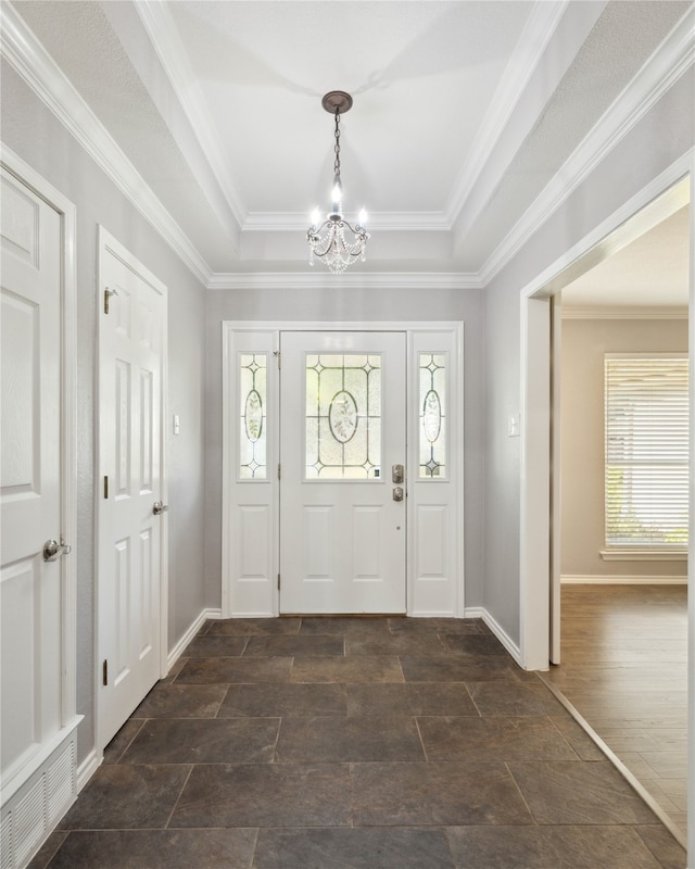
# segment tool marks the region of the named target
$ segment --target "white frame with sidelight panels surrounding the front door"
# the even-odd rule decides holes
[[[416,511],[418,499],[415,494],[417,478],[409,476],[408,499],[406,504],[406,613],[408,616],[454,616],[464,617],[465,577],[464,577],[464,452],[460,446],[464,442],[464,324],[460,322],[254,322],[254,320],[223,320],[222,322],[222,363],[223,363],[223,533],[222,533],[222,617],[277,617],[279,616],[279,591],[276,577],[279,572],[279,488],[277,475],[268,475],[267,506],[270,512],[269,520],[264,525],[263,533],[269,551],[267,563],[262,566],[258,576],[254,578],[258,590],[250,603],[239,607],[233,600],[232,588],[236,579],[235,568],[235,532],[238,515],[238,505],[235,501],[236,490],[239,488],[236,473],[236,431],[238,419],[237,382],[236,382],[236,354],[239,350],[240,336],[255,333],[263,337],[264,352],[275,354],[279,351],[279,335],[286,331],[362,331],[388,332],[397,331],[406,333],[407,344],[407,461],[408,468],[418,465],[417,438],[415,415],[410,408],[417,406],[418,381],[414,370],[413,361],[418,352],[438,352],[439,348],[430,343],[439,341],[445,345],[445,352],[451,360],[451,379],[448,398],[451,402],[451,428],[448,455],[452,461],[452,474],[446,481],[434,481],[439,487],[443,482],[452,483],[451,509],[446,513],[445,521],[454,526],[455,542],[452,544],[450,579],[446,582],[427,576],[418,579],[416,576]],[[235,339],[237,338],[237,342]],[[428,343],[429,342],[429,343]],[[249,349],[247,352],[253,352]],[[269,399],[268,413],[274,413],[279,419],[279,387],[277,386],[275,366],[268,375]],[[458,446],[458,449],[456,449]],[[268,467],[277,467],[279,456],[279,442],[277,433],[269,430]],[[426,486],[432,486],[426,482]],[[426,506],[422,504],[421,506]],[[421,547],[420,547],[421,549]],[[249,583],[249,588],[252,588]],[[429,601],[428,601],[429,595]],[[258,605],[261,602],[261,605]],[[431,603],[431,606],[429,606]]]

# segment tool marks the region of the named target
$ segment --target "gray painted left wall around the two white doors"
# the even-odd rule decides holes
[[[168,288],[169,647],[205,605],[203,589],[204,290],[15,72],[2,65],[2,140],[77,209],[77,711],[79,761],[94,733],[94,423],[97,226]],[[170,432],[170,425],[167,426]],[[72,556],[71,556],[72,557]]]

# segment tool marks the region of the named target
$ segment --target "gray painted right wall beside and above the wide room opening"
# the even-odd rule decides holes
[[[507,437],[518,413],[520,294],[694,143],[692,72],[679,79],[485,288],[484,605],[518,643],[520,440]]]

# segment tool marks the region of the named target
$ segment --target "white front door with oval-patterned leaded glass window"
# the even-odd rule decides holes
[[[280,612],[405,613],[406,336],[280,351]]]

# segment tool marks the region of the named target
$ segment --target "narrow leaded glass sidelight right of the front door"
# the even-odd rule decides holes
[[[446,354],[419,353],[420,479],[445,479]]]

